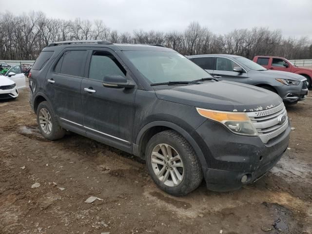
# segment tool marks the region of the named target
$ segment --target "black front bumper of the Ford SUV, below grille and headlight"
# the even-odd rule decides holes
[[[224,192],[253,183],[268,172],[286,151],[291,127],[289,124],[282,134],[267,144],[262,143],[259,137],[232,134],[220,124],[209,120],[196,132],[206,144],[202,149],[206,149],[203,153],[208,167],[203,168],[203,173],[207,188]],[[242,182],[244,175],[247,180]]]

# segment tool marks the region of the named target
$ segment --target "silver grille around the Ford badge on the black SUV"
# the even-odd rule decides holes
[[[269,110],[247,112],[263,143],[283,133],[288,127],[287,111],[284,103]],[[281,122],[282,116],[285,121]]]

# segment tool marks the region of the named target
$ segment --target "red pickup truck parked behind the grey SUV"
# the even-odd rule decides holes
[[[307,69],[303,67],[297,67],[293,65],[289,60],[274,57],[274,56],[255,56],[254,62],[265,67],[266,69],[275,71],[292,72],[304,76],[308,81],[308,88],[311,87],[312,83],[312,69]]]

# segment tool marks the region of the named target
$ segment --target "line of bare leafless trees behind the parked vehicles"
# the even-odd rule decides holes
[[[50,42],[63,40],[108,40],[113,43],[161,44],[182,55],[234,54],[253,59],[255,55],[287,59],[312,59],[312,42],[307,37],[285,38],[280,30],[264,27],[234,29],[218,35],[198,22],[184,31],[118,32],[103,20],[62,20],[42,12],[14,15],[0,13],[0,59],[36,59]]]

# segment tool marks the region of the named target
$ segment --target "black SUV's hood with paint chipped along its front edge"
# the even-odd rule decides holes
[[[260,111],[282,103],[271,91],[231,81],[176,86],[155,92],[162,100],[219,111]]]

